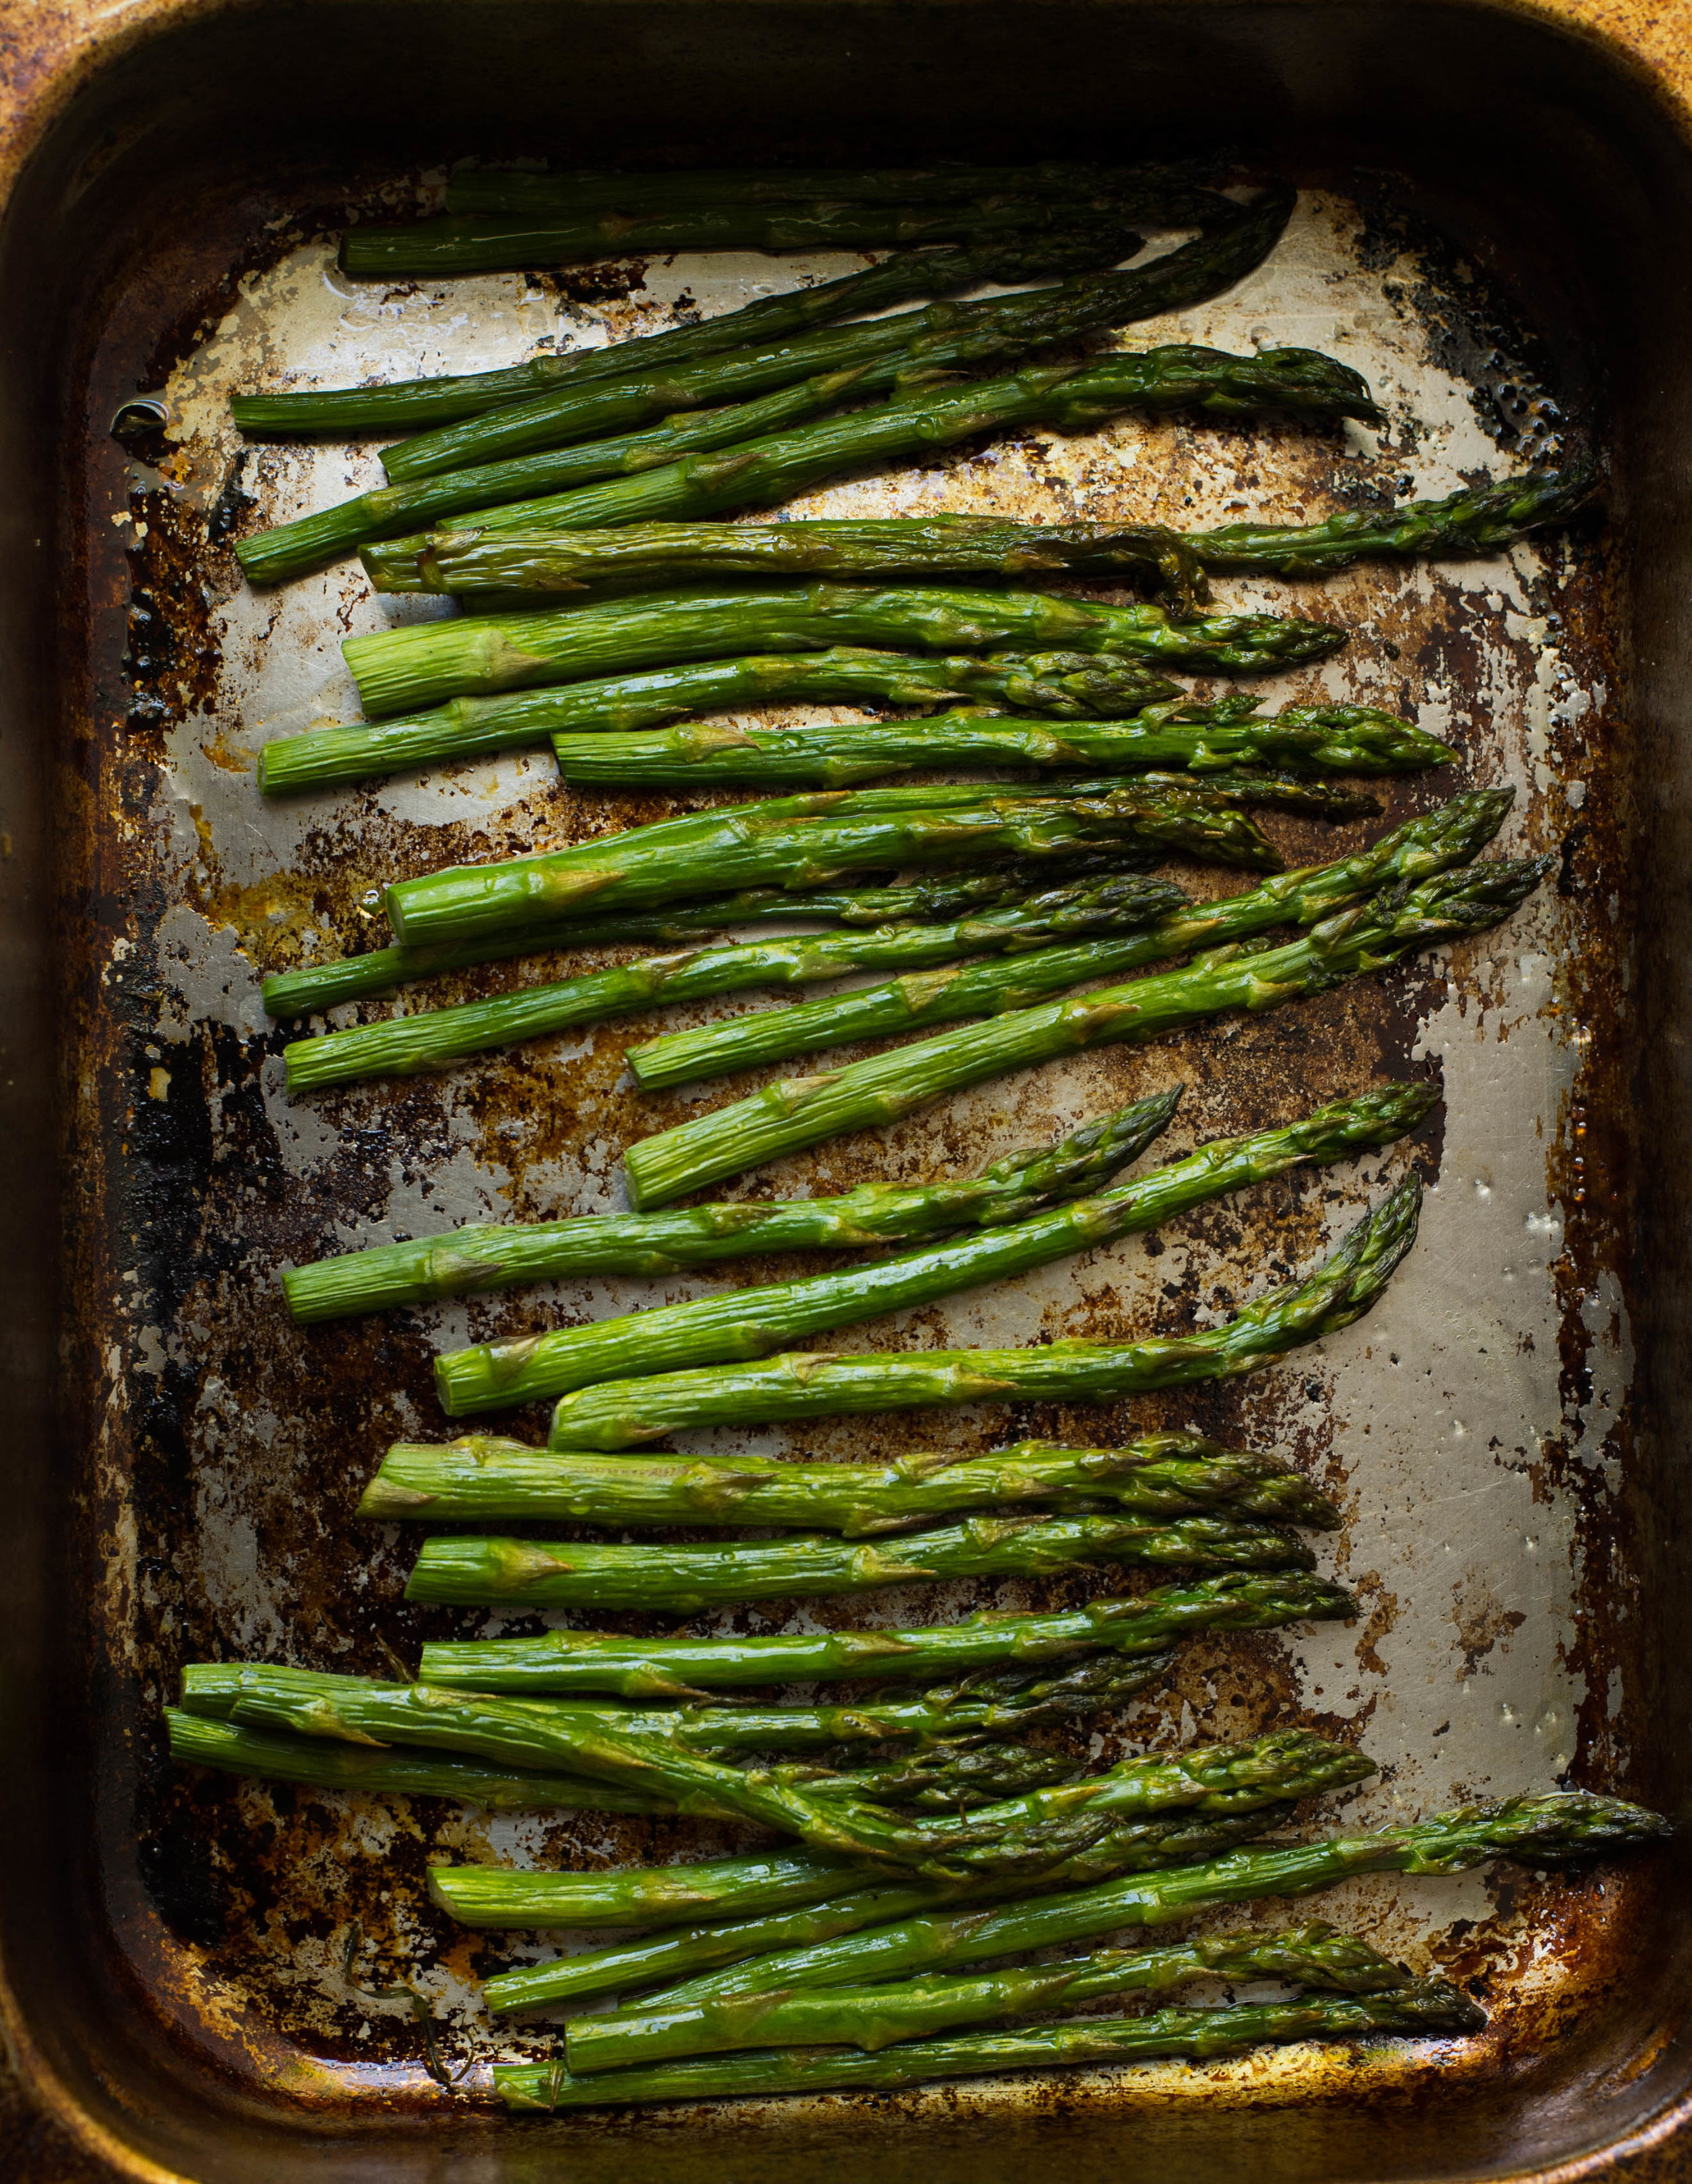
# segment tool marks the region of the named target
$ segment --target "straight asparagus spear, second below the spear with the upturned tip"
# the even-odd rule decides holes
[[[640,1385],[640,1382],[635,1382]],[[1046,1577],[1076,1564],[1183,1564],[1201,1570],[1310,1568],[1301,1540],[1225,1516],[974,1516],[897,1548],[827,1535],[725,1546],[624,1546],[579,1540],[426,1540],[408,1601],[478,1607],[655,1607],[694,1614],[725,1601],[873,1592],[948,1577]]]

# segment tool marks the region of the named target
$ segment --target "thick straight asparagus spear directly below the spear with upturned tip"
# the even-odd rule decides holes
[[[1330,1531],[1338,1511],[1279,1457],[1234,1455],[1192,1433],[1127,1448],[1017,1441],[985,1457],[915,1450],[891,1463],[782,1457],[581,1457],[472,1437],[395,1441],[358,1503],[362,1518],[570,1524],[810,1524],[847,1540],[906,1531],[965,1509],[1044,1503],[1079,1514],[1113,1503],[1142,1516],[1236,1509]]]

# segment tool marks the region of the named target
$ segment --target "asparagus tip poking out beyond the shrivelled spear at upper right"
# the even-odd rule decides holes
[[[1528,531],[1568,522],[1598,483],[1598,465],[1576,456],[1563,470],[1469,485],[1445,500],[1347,509],[1321,524],[1225,524],[1188,533],[1185,544],[1205,568],[1264,568],[1282,577],[1327,577],[1365,555],[1496,553]]]

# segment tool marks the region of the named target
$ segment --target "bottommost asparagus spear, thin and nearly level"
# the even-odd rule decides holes
[[[493,2064],[507,2108],[605,2108],[618,2101],[701,2101],[714,2094],[889,2090],[945,2077],[996,2077],[1076,2064],[1151,2062],[1188,2055],[1210,2062],[1242,2049],[1290,2040],[1360,2040],[1369,2033],[1430,2038],[1482,2025],[1476,2005],[1443,1979],[1421,1979],[1391,1994],[1349,1994],[1299,2003],[1229,2003],[1212,2009],[1157,2009],[1137,2018],[1083,2018],[954,2040],[910,2040],[884,2055],[838,2049],[768,2049],[659,2062],[644,2070],[570,2077],[563,2062]]]

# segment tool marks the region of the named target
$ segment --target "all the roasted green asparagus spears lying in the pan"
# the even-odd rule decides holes
[[[1336,775],[1415,773],[1452,751],[1375,708],[1271,714],[1249,695],[1201,699],[1168,670],[1277,670],[1345,642],[1323,620],[1216,612],[1210,572],[1319,577],[1367,555],[1496,550],[1568,520],[1596,485],[1585,461],[1312,524],[1188,533],[982,515],[701,520],[980,435],[1089,430],[1129,411],[1375,422],[1367,382],[1316,352],[1098,345],[1242,280],[1292,203],[1279,186],[1238,203],[1172,170],[1057,164],[463,173],[441,214],[354,227],[343,269],[432,277],[609,251],[893,253],[598,349],[234,402],[249,432],[415,435],[384,450],[386,485],[240,539],[255,583],[358,550],[376,590],[472,607],[349,638],[367,719],[269,743],[266,793],[531,747],[550,747],[579,786],[762,791],[570,850],[397,880],[393,941],[269,978],[273,1016],[321,1016],[513,957],[675,952],[295,1040],[290,1090],[847,972],[878,976],[644,1040],[629,1051],[635,1083],[956,1026],[775,1079],[638,1140],[631,1212],[478,1225],[284,1275],[293,1317],[312,1324],[589,1273],[871,1254],[751,1293],[441,1352],[448,1415],[552,1400],[548,1446],[485,1433],[395,1444],[362,1487],[360,1518],[779,1535],[432,1535],[408,1599],[694,1614],[952,1577],[1100,1566],[1157,1577],[1137,1594],[917,1627],[441,1640],[424,1647],[417,1682],[190,1664],[181,1706],[166,1708],[170,1749],[190,1765],[496,1811],[696,1815],[788,1837],[672,1867],[434,1867],[432,1900],[467,1926],[629,1931],[487,1981],[496,2014],[565,2011],[552,2060],[496,2068],[511,2110],[1450,2038],[1485,2022],[1465,1994],[1325,1924],[1013,1959],[1354,1874],[1563,1863],[1666,1832],[1637,1806],[1559,1793],[1288,1839],[1288,1824],[1310,1817],[1301,1800],[1373,1773],[1351,1745],[1299,1728],[1094,1771],[1076,1760],[1188,1636],[1354,1614],[1301,1538],[1336,1529],[1341,1514],[1275,1452],[1192,1433],[1100,1448],[1024,1439],[878,1465],[624,1452],[712,1426],[1100,1402],[1251,1372],[1356,1321],[1410,1251],[1419,1184],[1406,1173],[1308,1275],[1199,1332],[1024,1350],[795,1348],[1111,1245],[1288,1168],[1386,1149],[1432,1105],[1423,1083],[1218,1138],[1127,1182],[1170,1127],[1179,1085],[974,1179],[664,1210],[1013,1068],[1386,970],[1498,924],[1539,885],[1544,858],[1478,856],[1509,791],[1454,795],[1369,847],[1282,869],[1253,810],[1369,817],[1373,797]],[[1142,227],[1190,240],[1140,262]],[[1046,286],[952,301],[1026,282]],[[1013,587],[1100,579],[1155,596]],[[782,701],[845,701],[867,716],[692,719]],[[913,771],[989,778],[889,782]],[[1262,878],[1194,902],[1153,871],[1170,854]],[[823,930],[731,937],[773,922]],[[771,1699],[801,1682],[843,1695]],[[1266,1979],[1284,1998],[1028,2022],[1107,1996]],[[620,2007],[572,2014],[587,1996]]]

